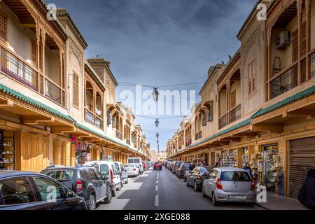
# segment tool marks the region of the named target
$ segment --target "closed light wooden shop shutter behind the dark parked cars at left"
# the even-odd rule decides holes
[[[48,165],[48,138],[21,133],[21,171],[41,172]]]

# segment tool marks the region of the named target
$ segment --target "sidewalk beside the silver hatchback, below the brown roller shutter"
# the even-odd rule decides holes
[[[310,210],[293,198],[281,197],[270,192],[267,192],[267,203],[256,204],[268,210]]]

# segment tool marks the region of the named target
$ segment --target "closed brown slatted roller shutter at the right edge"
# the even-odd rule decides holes
[[[309,169],[315,169],[315,137],[290,141],[290,197],[297,198]]]

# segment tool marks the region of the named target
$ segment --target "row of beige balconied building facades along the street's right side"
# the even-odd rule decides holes
[[[234,57],[209,69],[202,100],[167,155],[211,167],[249,162],[257,183],[296,198],[315,168],[315,1],[271,1],[265,21],[256,18],[258,3]]]

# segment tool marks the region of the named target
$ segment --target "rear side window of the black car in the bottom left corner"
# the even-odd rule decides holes
[[[35,202],[34,193],[26,177],[1,180],[0,192],[6,205]]]

